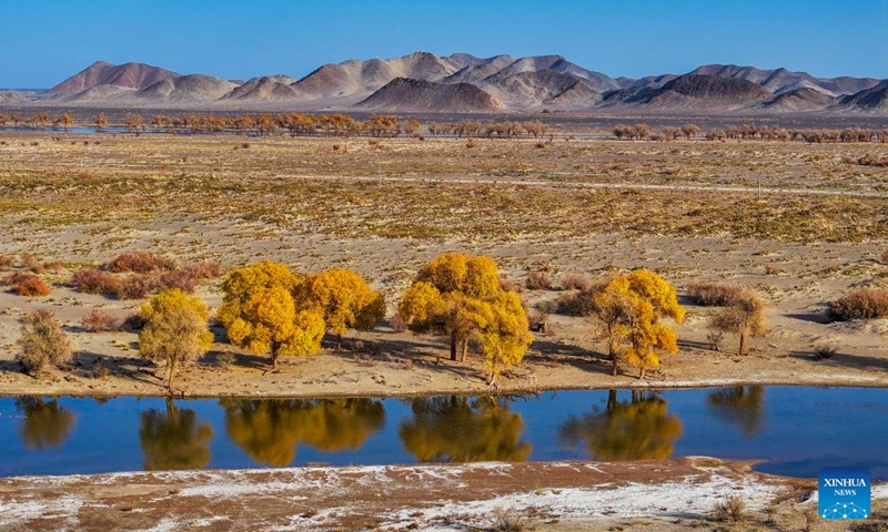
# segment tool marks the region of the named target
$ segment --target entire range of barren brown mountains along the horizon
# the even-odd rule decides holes
[[[476,58],[414,52],[324,64],[304,78],[221,80],[144,63],[95,62],[46,92],[3,91],[0,105],[295,109],[372,112],[646,110],[683,113],[888,113],[888,80],[816,78],[707,64],[685,74],[610,78],[562,55]]]

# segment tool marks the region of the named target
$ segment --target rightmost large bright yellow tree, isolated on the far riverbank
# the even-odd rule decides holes
[[[658,351],[678,351],[675,330],[663,319],[682,324],[685,308],[678,304],[675,287],[653,272],[636,269],[610,279],[593,296],[593,310],[607,332],[614,375],[623,358],[638,367],[643,379],[648,369],[659,367]],[[620,352],[625,340],[629,345]]]

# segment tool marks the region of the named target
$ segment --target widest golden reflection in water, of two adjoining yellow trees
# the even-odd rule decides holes
[[[296,444],[320,451],[359,449],[385,424],[385,409],[373,399],[222,399],[229,437],[255,461],[285,467]]]

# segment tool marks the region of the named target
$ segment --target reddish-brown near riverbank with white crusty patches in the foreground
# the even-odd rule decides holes
[[[817,482],[750,462],[485,462],[465,466],[138,472],[0,479],[0,530],[854,530],[816,516]],[[743,499],[738,523],[713,509]],[[888,489],[874,488],[874,515]]]

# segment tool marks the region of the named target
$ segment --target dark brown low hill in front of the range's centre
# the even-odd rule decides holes
[[[396,78],[354,105],[361,111],[491,113],[506,106],[475,85],[468,83],[435,83],[425,80]]]

